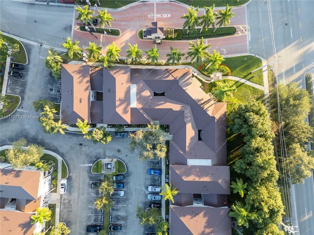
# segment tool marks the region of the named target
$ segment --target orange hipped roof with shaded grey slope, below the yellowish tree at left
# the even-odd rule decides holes
[[[0,197],[38,199],[40,174],[36,170],[0,169]]]

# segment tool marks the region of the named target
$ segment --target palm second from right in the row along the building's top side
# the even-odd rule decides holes
[[[211,47],[210,44],[205,45],[204,39],[196,40],[196,44],[189,42],[190,47],[188,47],[188,52],[186,53],[186,58],[191,57],[191,63],[196,59],[196,63],[202,62],[205,58],[209,57],[209,52],[207,49]]]

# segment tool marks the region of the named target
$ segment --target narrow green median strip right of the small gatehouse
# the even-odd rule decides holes
[[[214,29],[209,28],[207,31],[203,30],[202,33],[200,28],[197,28],[193,32],[189,32],[187,35],[187,29],[183,29],[183,40],[195,40],[195,39],[201,39],[203,38],[220,38],[220,37],[225,37],[225,36],[230,36],[234,35],[236,33],[236,28],[231,26],[231,27],[220,27],[217,28],[215,33],[213,33]]]

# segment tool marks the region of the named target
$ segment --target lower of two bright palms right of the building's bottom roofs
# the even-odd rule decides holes
[[[237,220],[239,226],[249,227],[249,220],[255,217],[254,213],[250,213],[249,206],[243,206],[240,202],[235,201],[235,205],[231,206],[233,211],[229,212],[231,217],[234,217]]]

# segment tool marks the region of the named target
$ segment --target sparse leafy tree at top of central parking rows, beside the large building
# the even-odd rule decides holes
[[[155,156],[160,159],[166,154],[167,148],[164,143],[168,140],[168,135],[159,128],[159,125],[150,123],[147,125],[147,131],[136,131],[130,138],[130,147],[139,151],[138,159],[141,161],[153,159]]]

